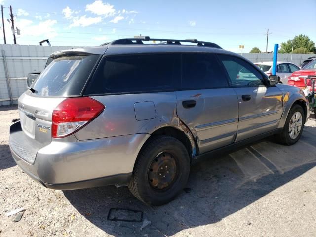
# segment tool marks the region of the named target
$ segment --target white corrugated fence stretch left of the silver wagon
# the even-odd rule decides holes
[[[10,104],[8,78],[16,104],[17,98],[26,90],[27,74],[43,71],[50,54],[68,48],[72,47],[0,44],[0,105]]]

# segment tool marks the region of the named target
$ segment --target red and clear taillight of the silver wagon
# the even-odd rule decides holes
[[[104,109],[103,104],[90,97],[65,99],[53,111],[52,137],[61,138],[73,134]]]

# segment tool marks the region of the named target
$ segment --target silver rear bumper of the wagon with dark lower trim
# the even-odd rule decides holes
[[[150,136],[134,134],[71,142],[56,139],[40,148],[34,163],[29,163],[16,152],[16,142],[12,140],[19,137],[12,136],[12,133],[23,135],[18,125],[12,125],[15,129],[10,129],[9,139],[15,162],[35,181],[61,190],[126,184],[138,152]]]

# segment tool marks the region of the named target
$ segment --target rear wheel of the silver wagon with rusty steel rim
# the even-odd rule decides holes
[[[185,187],[190,173],[190,158],[176,138],[159,135],[141,150],[128,183],[130,192],[149,205],[173,200]]]

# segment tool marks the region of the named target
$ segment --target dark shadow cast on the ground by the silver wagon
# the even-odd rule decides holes
[[[186,192],[160,207],[143,204],[126,187],[64,191],[64,195],[87,220],[113,236],[170,236],[216,223],[313,168],[315,136],[316,128],[305,127],[301,140],[293,146],[264,140],[230,154],[201,159],[191,168]],[[110,208],[141,210],[151,224],[140,230],[142,223],[108,221]]]

